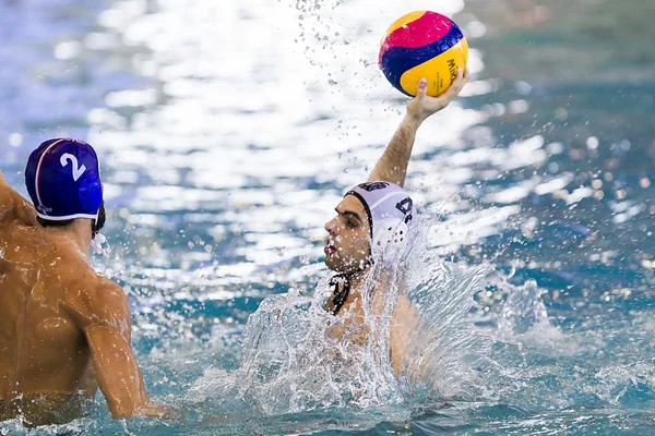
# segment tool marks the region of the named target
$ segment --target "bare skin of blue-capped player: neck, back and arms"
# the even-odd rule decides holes
[[[128,300],[90,266],[90,220],[38,225],[0,172],[0,421],[68,422],[98,385],[115,417],[163,413],[132,354]]]

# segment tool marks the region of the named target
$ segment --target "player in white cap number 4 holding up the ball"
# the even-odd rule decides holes
[[[325,265],[336,272],[331,280],[334,291],[325,310],[341,320],[332,326],[333,335],[349,335],[350,342],[360,342],[368,335],[364,292],[371,279],[371,267],[384,257],[393,257],[394,251],[396,255],[400,253],[416,221],[412,198],[403,189],[416,132],[427,118],[445,108],[460,94],[468,78],[468,70],[460,70],[451,87],[437,98],[426,95],[425,78],[419,82],[417,96],[407,105],[405,118],[368,181],[346,193],[336,206],[336,217],[325,225]],[[382,312],[379,296],[385,287],[384,280],[380,280],[373,292],[374,314]],[[396,374],[407,358],[405,349],[417,322],[415,306],[400,292],[389,339],[391,363]]]

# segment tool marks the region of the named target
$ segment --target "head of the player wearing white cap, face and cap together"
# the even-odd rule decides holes
[[[361,270],[391,249],[402,249],[416,217],[412,198],[391,182],[353,187],[336,213],[325,225],[325,265],[342,274]]]

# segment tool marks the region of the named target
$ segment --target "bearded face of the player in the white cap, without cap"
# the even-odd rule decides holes
[[[361,202],[346,195],[336,206],[336,217],[325,223],[325,265],[337,272],[364,268],[370,258],[370,226]]]

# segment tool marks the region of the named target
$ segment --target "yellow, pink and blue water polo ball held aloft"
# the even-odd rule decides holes
[[[465,69],[468,44],[448,16],[431,11],[408,13],[389,27],[380,48],[380,69],[391,84],[408,96],[416,95],[421,78],[427,94],[437,97]]]

